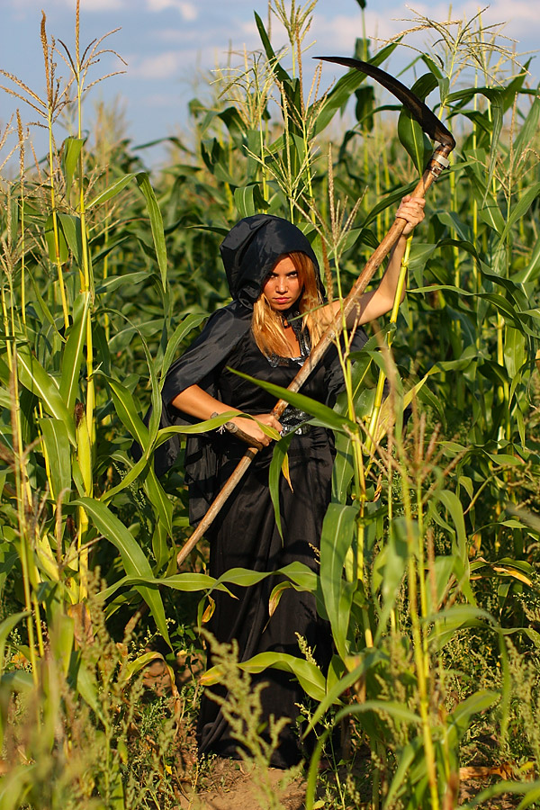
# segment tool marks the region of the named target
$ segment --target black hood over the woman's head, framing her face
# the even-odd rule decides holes
[[[255,214],[240,220],[220,244],[232,298],[251,308],[266,276],[285,253],[298,250],[311,258],[321,293],[319,262],[302,230],[281,217]]]

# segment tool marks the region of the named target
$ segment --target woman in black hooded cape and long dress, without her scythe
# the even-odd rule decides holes
[[[352,319],[356,326],[392,309],[405,236],[423,219],[423,207],[423,200],[403,198],[397,216],[407,220],[404,236],[378,288],[361,296],[359,315]],[[332,439],[324,428],[302,424],[309,419],[302,411],[288,408],[280,421],[275,419],[271,413],[275,399],[230,369],[287,387],[339,304],[323,304],[317,258],[302,231],[286,220],[266,214],[240,220],[224,239],[220,253],[233,302],[211,317],[193,346],[171,366],[162,391],[161,426],[234,411],[238,416],[231,419],[233,425],[265,447],[207,532],[212,576],[235,567],[275,571],[294,561],[316,570],[320,530],[330,499]],[[365,341],[364,333],[359,330],[355,339],[358,348]],[[337,356],[329,352],[302,393],[332,404],[339,387]],[[283,538],[268,489],[271,439],[261,426],[282,435],[295,431],[288,450],[291,486],[283,477],[280,483]],[[185,468],[192,523],[202,518],[245,449],[227,431],[188,439]],[[164,455],[169,457],[158,458],[157,466],[166,465],[174,453],[174,447],[166,448]],[[327,623],[317,615],[314,597],[284,590],[269,617],[268,599],[274,586],[275,579],[266,578],[252,588],[236,589],[237,599],[217,593],[211,633],[220,642],[237,639],[241,660],[267,651],[299,656],[301,635],[325,671],[332,654],[331,638]],[[304,698],[302,689],[287,673],[273,669],[259,680],[268,684],[261,693],[266,722],[271,715],[291,719],[272,761],[286,768],[302,757],[294,728],[298,704]],[[198,740],[202,753],[238,756],[238,741],[232,738],[218,705],[207,697],[202,698]]]

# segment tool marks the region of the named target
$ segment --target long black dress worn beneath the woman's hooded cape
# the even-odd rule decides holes
[[[298,372],[299,361],[290,358],[268,360],[258,349],[249,329],[231,352],[219,375],[220,399],[246,413],[268,413],[275,397],[263,389],[232,374],[226,366],[238,369],[260,380],[288,386]],[[302,387],[302,393],[319,401],[326,400],[326,371],[315,369]],[[230,434],[216,436],[218,479],[222,485],[244,454],[246,446]],[[318,570],[316,549],[330,499],[333,446],[324,428],[311,427],[295,436],[289,447],[289,464],[293,491],[280,480],[280,513],[283,541],[275,523],[275,511],[268,488],[268,468],[273,446],[257,454],[235,493],[220,512],[208,534],[210,540],[210,573],[219,577],[230,568],[275,571],[299,561]],[[238,599],[216,593],[216,606],[209,629],[221,642],[238,640],[239,654],[246,661],[257,653],[277,652],[300,656],[296,634],[302,635],[315,659],[326,671],[332,654],[329,626],[317,615],[315,598],[309,593],[284,590],[273,616],[268,617],[268,600],[276,579],[267,578],[256,586],[234,589]],[[293,676],[268,669],[256,676],[268,683],[261,702],[267,719],[270,715],[289,717],[272,761],[276,767],[289,767],[302,757],[294,720],[298,703],[306,697]],[[214,691],[223,689],[212,688]],[[238,755],[238,741],[230,735],[229,726],[211,698],[202,698],[198,726],[199,751],[221,756]]]

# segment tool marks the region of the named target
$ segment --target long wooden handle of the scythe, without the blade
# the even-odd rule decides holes
[[[443,168],[448,166],[447,157],[451,151],[452,146],[448,145],[439,145],[436,148],[431,156],[431,159],[429,160],[424,174],[420,177],[419,183],[412,192],[411,197],[426,196],[429,186],[433,184],[435,180],[437,180],[437,177],[440,175]],[[312,370],[319,363],[320,358],[324,355],[330,344],[338,339],[339,335],[343,331],[343,321],[347,320],[347,316],[350,315],[351,312],[354,311],[358,306],[357,299],[360,295],[362,295],[362,293],[365,292],[365,288],[372,280],[376,270],[383,263],[383,259],[388,256],[392,250],[392,247],[394,247],[398,239],[401,237],[405,225],[406,220],[402,220],[401,218],[394,220],[391,229],[383,238],[379,247],[376,248],[372,257],[367,261],[362,273],[356,279],[350,293],[348,293],[347,298],[343,302],[343,308],[337,312],[332,323],[330,323],[329,327],[325,330],[325,332],[323,332],[319,343],[312,349],[311,355],[302,365],[302,368],[294,377],[293,382],[289,385],[287,389],[288,391],[297,392],[300,388],[302,388],[303,383],[306,382]],[[272,413],[276,419],[281,417],[285,408],[287,407],[287,404],[288,402],[285,400],[279,400],[276,403],[274,410],[272,410]],[[206,515],[202,518],[198,527],[196,527],[194,530],[193,535],[178,552],[176,557],[178,566],[184,563],[187,555],[193,551],[193,548],[195,545],[197,545],[206,529],[211,526],[214,518],[216,518],[216,516],[219,514],[221,507],[229,498],[230,493],[236,489],[238,482],[243,477],[244,473],[246,473],[247,468],[257,453],[258,449],[256,447],[249,447],[246,453],[240,459],[234,473],[232,473],[229,480],[223,485],[216,499],[211,504],[210,509],[208,509]]]

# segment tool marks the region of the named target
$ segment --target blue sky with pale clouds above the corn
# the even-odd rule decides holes
[[[290,0],[284,3],[289,6]],[[540,77],[536,53],[540,15],[534,13],[534,6],[534,0],[493,0],[482,13],[484,25],[506,23],[503,33],[508,39],[501,39],[500,44],[512,48],[516,40],[518,53],[530,52],[531,86],[536,86]],[[62,40],[69,49],[74,49],[75,0],[0,0],[0,68],[18,76],[39,95],[45,86],[41,9],[46,14],[49,38]],[[181,135],[187,127],[188,102],[193,96],[209,97],[214,77],[211,71],[227,63],[228,51],[238,54],[244,48],[248,51],[260,48],[254,11],[265,23],[268,17],[267,0],[81,0],[80,9],[81,48],[118,29],[103,40],[102,47],[114,50],[125,62],[106,53],[91,68],[89,81],[115,70],[125,73],[111,76],[90,90],[87,103],[90,117],[92,99],[121,111],[133,145]],[[455,2],[452,19],[471,19],[480,9],[482,5],[477,2]],[[430,4],[411,0],[407,5],[399,0],[366,0],[366,35],[373,40],[385,40],[412,27],[414,23],[409,21],[416,20],[417,14],[444,21],[448,19],[449,6],[438,0]],[[350,56],[362,30],[358,0],[319,0],[304,44],[311,45],[308,54]],[[275,48],[284,45],[284,34],[275,17],[272,35]],[[428,40],[426,33],[407,39],[417,47],[423,47]],[[413,56],[408,49],[398,51],[386,66],[394,73]],[[309,63],[309,58],[305,61]],[[232,63],[239,64],[239,57],[233,55]],[[284,64],[288,66],[287,58]],[[58,72],[61,67],[58,60]],[[340,67],[326,65],[322,84],[330,85],[342,73]],[[0,85],[14,87],[4,76],[0,76]],[[0,133],[17,105],[21,106],[23,121],[35,120],[29,108],[0,91]],[[44,150],[42,134],[35,135],[34,141],[38,149]],[[9,143],[8,140],[0,150],[0,165]],[[162,148],[150,148],[145,150],[144,159],[152,165],[163,154]]]

